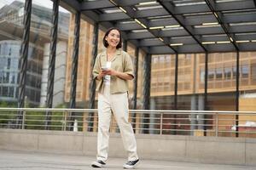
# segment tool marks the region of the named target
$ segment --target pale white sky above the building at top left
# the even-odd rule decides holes
[[[25,0],[0,0],[0,8],[2,8],[4,5],[13,3],[14,1],[25,3]],[[32,0],[32,4],[37,4],[46,8],[52,8],[52,2],[50,0]],[[60,7],[59,10],[64,13],[68,13],[65,8]]]

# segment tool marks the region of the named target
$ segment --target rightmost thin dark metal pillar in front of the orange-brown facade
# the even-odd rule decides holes
[[[236,51],[236,111],[239,111],[239,79],[240,79],[240,65],[239,65],[239,51]],[[238,121],[239,119],[239,115],[237,113],[236,115],[236,137],[239,137],[239,133],[238,133]]]

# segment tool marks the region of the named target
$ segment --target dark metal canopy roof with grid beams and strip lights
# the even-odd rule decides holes
[[[255,0],[61,0],[148,54],[256,50]]]

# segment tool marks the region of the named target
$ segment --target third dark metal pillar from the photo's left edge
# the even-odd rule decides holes
[[[76,90],[77,90],[77,76],[78,76],[78,62],[79,62],[79,37],[80,37],[80,16],[81,13],[77,11],[75,15],[75,30],[73,39],[73,61],[72,61],[72,74],[71,74],[71,90],[70,90],[70,102],[69,108],[74,109],[76,107]],[[71,113],[69,120],[71,121],[68,126],[68,130],[72,129],[74,114]]]

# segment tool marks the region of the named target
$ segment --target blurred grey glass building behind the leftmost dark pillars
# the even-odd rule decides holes
[[[20,1],[6,4],[0,9],[0,99],[3,101],[17,101],[23,15],[24,3]],[[30,105],[45,103],[51,18],[51,8],[32,4],[25,92]],[[53,105],[63,103],[68,22],[69,14],[60,12]]]

